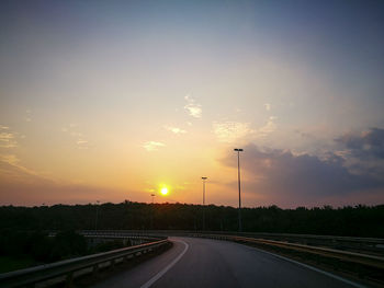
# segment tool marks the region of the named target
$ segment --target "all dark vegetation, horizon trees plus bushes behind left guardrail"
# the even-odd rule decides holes
[[[55,205],[0,207],[0,273],[123,247],[122,241],[88,243],[76,230],[236,231],[238,210],[187,204]],[[332,208],[276,206],[242,209],[245,232],[384,238],[384,205]],[[48,237],[56,231],[56,237]]]

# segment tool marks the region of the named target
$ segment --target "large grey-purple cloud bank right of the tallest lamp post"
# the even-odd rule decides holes
[[[244,150],[245,191],[270,204],[316,205],[325,198],[360,192],[369,194],[370,191],[381,191],[384,200],[384,178],[373,177],[370,173],[352,173],[345,165],[346,161],[331,152],[320,159],[307,153],[294,154],[290,150],[260,149],[255,145],[248,145]],[[222,159],[222,163],[237,166],[233,152]]]

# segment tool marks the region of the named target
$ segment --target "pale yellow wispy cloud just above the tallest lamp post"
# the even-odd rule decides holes
[[[221,142],[234,142],[253,133],[249,123],[214,122],[213,130]]]

